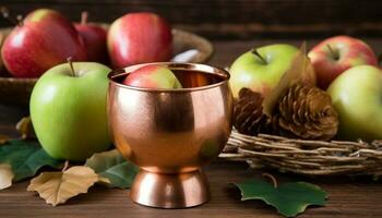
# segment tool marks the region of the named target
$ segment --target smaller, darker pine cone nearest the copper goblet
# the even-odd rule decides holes
[[[239,98],[235,100],[234,116],[235,128],[239,133],[256,135],[265,126],[268,120],[263,114],[263,97],[249,88],[241,88]]]

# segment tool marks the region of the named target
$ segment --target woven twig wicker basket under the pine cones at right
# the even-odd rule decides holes
[[[306,175],[382,174],[382,141],[307,141],[232,131],[219,157]]]

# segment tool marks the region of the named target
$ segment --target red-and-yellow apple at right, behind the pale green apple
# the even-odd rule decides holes
[[[355,65],[377,65],[372,49],[362,40],[350,36],[335,36],[317,45],[308,57],[317,74],[318,86],[326,89],[341,73]]]

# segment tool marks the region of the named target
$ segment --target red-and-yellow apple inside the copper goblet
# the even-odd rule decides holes
[[[124,85],[144,88],[181,88],[181,84],[171,70],[159,64],[142,66],[131,72]]]

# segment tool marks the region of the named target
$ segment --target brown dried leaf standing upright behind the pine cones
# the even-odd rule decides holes
[[[300,50],[296,53],[289,69],[284,73],[278,85],[263,100],[263,111],[266,116],[272,117],[273,109],[277,104],[279,96],[286,89],[299,81],[315,82],[314,69],[307,56],[307,44],[302,43]]]

